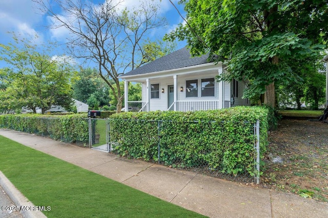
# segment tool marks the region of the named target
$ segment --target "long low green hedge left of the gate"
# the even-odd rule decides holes
[[[0,128],[49,136],[56,140],[86,144],[89,142],[87,114],[1,115]]]

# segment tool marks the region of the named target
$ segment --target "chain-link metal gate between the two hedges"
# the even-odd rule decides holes
[[[89,117],[89,148],[110,152],[108,119]]]

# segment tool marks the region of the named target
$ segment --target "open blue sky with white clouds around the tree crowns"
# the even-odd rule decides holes
[[[120,1],[121,7],[129,8],[139,4],[137,0]],[[166,17],[168,21],[168,26],[154,31],[154,35],[162,37],[164,34],[174,30],[178,23],[183,22],[183,19],[179,16],[169,0],[156,1],[160,2],[160,15]],[[105,0],[94,0],[93,2],[102,3],[105,2]],[[183,6],[177,3],[178,0],[172,0],[172,2],[178,7],[180,13],[185,16],[186,13],[183,11]],[[49,25],[49,20],[49,17],[39,13],[37,5],[32,0],[0,0],[0,43],[8,44],[12,38],[12,35],[8,34],[8,32],[15,32],[26,38],[28,38],[29,35],[36,34],[39,37],[38,40],[40,40],[40,43],[57,41],[59,44],[64,44],[68,32],[64,28],[47,29],[46,26]],[[185,45],[185,42],[178,42],[177,49]],[[65,53],[64,50],[59,51],[59,53],[61,52],[62,54]],[[0,62],[0,68],[3,66],[4,63]]]

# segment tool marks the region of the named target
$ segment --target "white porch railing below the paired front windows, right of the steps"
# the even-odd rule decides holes
[[[168,110],[174,110],[174,104],[176,104],[177,111],[216,110],[220,108],[218,100],[176,101]]]

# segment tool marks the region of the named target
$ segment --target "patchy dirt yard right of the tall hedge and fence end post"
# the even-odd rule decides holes
[[[282,119],[269,140],[261,185],[328,202],[328,124]]]

